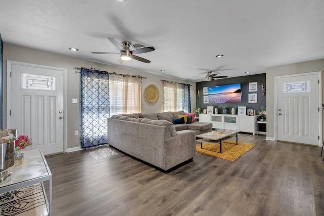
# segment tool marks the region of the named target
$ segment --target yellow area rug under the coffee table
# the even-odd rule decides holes
[[[255,147],[254,144],[238,142],[238,145],[236,145],[236,141],[226,140],[222,142],[222,153],[218,153],[220,151],[219,144],[213,145],[207,143],[203,143],[203,149],[200,148],[200,143],[197,144],[196,152],[234,161],[253,147]]]

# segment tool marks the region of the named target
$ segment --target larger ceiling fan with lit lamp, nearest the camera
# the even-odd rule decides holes
[[[120,59],[118,60],[118,64],[121,64],[124,61],[129,61],[131,59],[135,59],[137,61],[144,62],[144,63],[151,62],[147,59],[144,59],[142,57],[135,56],[135,55],[154,51],[155,50],[154,47],[144,47],[144,48],[139,48],[136,50],[130,50],[130,47],[132,45],[131,42],[123,41],[123,42],[121,42],[121,44],[119,44],[114,38],[108,37],[108,39],[120,51],[119,53],[107,53],[107,52],[91,52],[91,53],[94,53],[94,54],[119,54]]]

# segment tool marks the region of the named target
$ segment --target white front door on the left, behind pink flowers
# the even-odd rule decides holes
[[[63,152],[64,69],[9,63],[11,88],[7,88],[7,98],[11,104],[7,107],[11,112],[7,127],[17,128],[17,136],[28,135],[32,149],[40,148],[44,154]]]

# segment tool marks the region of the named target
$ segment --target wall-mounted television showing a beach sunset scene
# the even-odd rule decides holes
[[[241,101],[240,83],[208,87],[209,104],[240,103]]]

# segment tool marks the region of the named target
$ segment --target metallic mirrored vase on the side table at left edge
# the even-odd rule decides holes
[[[15,141],[3,140],[0,143],[0,184],[12,180],[11,169],[15,166]]]

